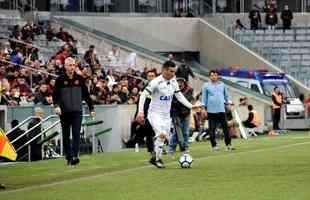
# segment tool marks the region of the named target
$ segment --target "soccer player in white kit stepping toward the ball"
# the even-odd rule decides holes
[[[175,78],[176,66],[172,61],[166,61],[162,67],[162,74],[153,79],[140,95],[138,122],[144,121],[143,106],[145,98],[152,96],[148,110],[148,120],[155,132],[154,146],[156,159],[150,163],[158,168],[165,168],[162,161],[162,148],[168,138],[171,127],[170,109],[173,95],[184,106],[191,109],[193,105],[183,96]]]

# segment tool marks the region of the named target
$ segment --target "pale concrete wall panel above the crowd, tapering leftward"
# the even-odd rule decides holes
[[[156,52],[198,51],[197,19],[66,16],[74,21]]]

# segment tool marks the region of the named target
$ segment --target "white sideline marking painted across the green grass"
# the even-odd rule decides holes
[[[244,151],[244,152],[236,152],[236,153],[229,152],[228,154],[221,154],[221,155],[217,155],[217,156],[200,157],[200,158],[197,158],[196,160],[206,160],[206,159],[210,159],[210,158],[235,156],[235,155],[241,155],[241,154],[246,154],[246,153],[256,153],[256,152],[269,151],[269,150],[286,149],[286,148],[290,148],[290,147],[294,147],[294,146],[300,146],[300,145],[305,145],[305,144],[310,144],[310,142],[301,142],[301,143],[277,146],[277,147],[272,147],[272,148],[267,148],[267,149],[256,149],[256,150],[252,150],[252,151]],[[166,166],[172,165],[172,164],[175,164],[175,161],[167,163]],[[124,173],[128,173],[128,172],[134,172],[134,171],[141,170],[141,169],[146,169],[146,168],[154,168],[154,169],[156,169],[153,165],[146,165],[146,166],[135,167],[135,168],[125,169],[125,170],[120,170],[120,171],[115,171],[115,172],[110,172],[110,173],[97,174],[97,175],[86,176],[86,177],[79,177],[79,178],[70,179],[70,180],[56,181],[56,182],[53,182],[53,183],[47,183],[47,184],[41,184],[41,185],[32,185],[32,186],[28,186],[28,187],[24,187],[24,188],[20,188],[20,189],[2,191],[2,192],[0,192],[0,195],[1,194],[8,194],[8,193],[24,192],[24,191],[29,191],[29,190],[33,190],[33,189],[39,189],[39,188],[52,187],[52,186],[62,185],[62,184],[68,183],[68,182],[92,180],[92,179],[95,179],[95,178],[119,175],[119,174],[124,174]],[[156,169],[156,170],[165,170],[165,169]]]

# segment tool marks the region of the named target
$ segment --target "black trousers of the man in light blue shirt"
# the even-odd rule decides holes
[[[216,146],[215,129],[216,129],[218,124],[220,124],[222,129],[223,129],[225,144],[230,145],[231,144],[231,137],[230,137],[229,131],[228,131],[226,113],[224,113],[224,112],[208,113],[208,121],[209,121],[211,146],[212,147]]]

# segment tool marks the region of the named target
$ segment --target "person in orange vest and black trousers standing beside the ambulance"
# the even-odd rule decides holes
[[[273,130],[280,130],[279,122],[281,117],[281,106],[283,104],[283,97],[278,89],[274,87],[272,91],[272,122]]]

